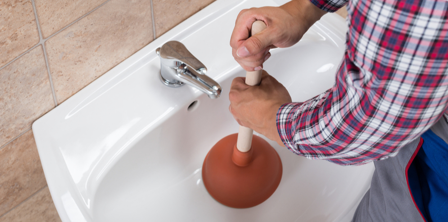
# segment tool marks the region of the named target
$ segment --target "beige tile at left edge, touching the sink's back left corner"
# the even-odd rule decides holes
[[[41,46],[0,70],[0,147],[54,108]]]

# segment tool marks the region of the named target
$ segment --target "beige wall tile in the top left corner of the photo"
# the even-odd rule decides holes
[[[0,67],[38,42],[31,0],[0,0]]]

